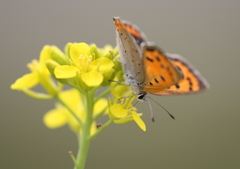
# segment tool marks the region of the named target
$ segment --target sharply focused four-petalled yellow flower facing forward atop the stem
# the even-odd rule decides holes
[[[55,76],[59,79],[75,78],[80,87],[86,90],[87,87],[99,86],[103,82],[102,73],[111,69],[114,64],[106,58],[99,57],[95,46],[90,48],[86,43],[68,44],[68,54],[71,58],[71,65],[57,66]],[[95,53],[91,53],[91,52]]]

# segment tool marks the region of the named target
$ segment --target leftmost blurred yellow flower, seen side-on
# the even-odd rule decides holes
[[[59,92],[59,89],[51,79],[50,73],[45,65],[45,62],[47,60],[52,59],[50,54],[52,48],[56,47],[44,46],[40,53],[39,61],[33,60],[27,65],[31,73],[28,73],[17,79],[15,83],[11,85],[11,89],[23,91],[26,94],[39,99],[48,99],[52,96],[55,96]],[[30,88],[35,87],[37,84],[42,85],[50,95],[44,95],[42,93],[37,93],[29,90]]]

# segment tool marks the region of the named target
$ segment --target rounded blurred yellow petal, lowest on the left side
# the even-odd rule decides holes
[[[60,108],[48,111],[43,117],[44,124],[51,129],[62,127],[67,120],[66,112]]]

